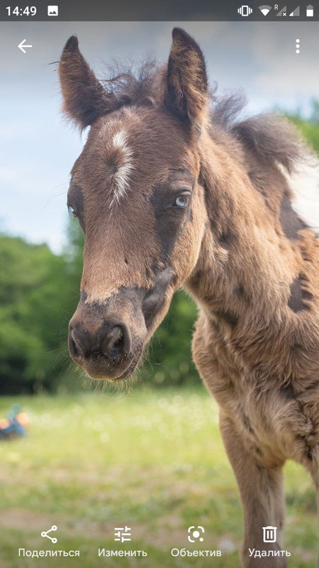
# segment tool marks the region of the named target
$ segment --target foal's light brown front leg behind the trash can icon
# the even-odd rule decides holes
[[[250,555],[252,549],[277,552],[282,548],[280,533],[285,515],[282,467],[260,466],[237,434],[235,423],[223,413],[220,432],[242,500],[245,526],[242,564],[245,568],[286,568],[286,557]],[[276,542],[263,542],[262,528],[267,526],[277,527]]]

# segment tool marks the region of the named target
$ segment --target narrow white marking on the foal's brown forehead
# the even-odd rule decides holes
[[[113,175],[113,200],[119,202],[130,185],[130,173],[133,170],[133,151],[128,145],[128,135],[124,130],[116,132],[112,140],[112,149],[118,151],[116,173]]]

